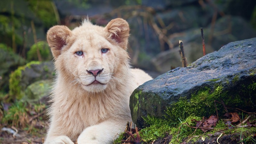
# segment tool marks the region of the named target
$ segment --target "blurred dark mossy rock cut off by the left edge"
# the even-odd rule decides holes
[[[22,57],[12,52],[6,44],[0,44],[0,91],[9,91],[9,74],[22,65],[25,65]]]

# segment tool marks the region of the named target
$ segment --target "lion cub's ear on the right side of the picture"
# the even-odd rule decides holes
[[[108,32],[108,39],[117,42],[123,49],[127,48],[129,37],[129,24],[126,20],[116,18],[111,20],[105,30]]]

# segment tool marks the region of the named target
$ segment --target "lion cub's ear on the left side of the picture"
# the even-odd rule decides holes
[[[66,26],[53,26],[48,30],[47,42],[54,58],[60,55],[61,49],[68,44],[71,36],[72,32]]]

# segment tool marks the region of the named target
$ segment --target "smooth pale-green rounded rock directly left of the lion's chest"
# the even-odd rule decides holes
[[[25,90],[25,95],[21,100],[29,103],[44,102],[42,99],[45,99],[45,97],[48,96],[52,84],[52,80],[39,80],[28,85]]]

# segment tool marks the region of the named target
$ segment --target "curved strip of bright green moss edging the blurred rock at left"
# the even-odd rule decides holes
[[[24,95],[24,90],[22,90],[22,86],[20,85],[20,81],[22,78],[22,71],[25,70],[25,68],[30,68],[32,64],[40,64],[39,61],[31,61],[25,66],[20,66],[18,69],[16,69],[14,72],[11,73],[10,79],[9,79],[9,95],[12,96],[12,100],[20,100]]]

